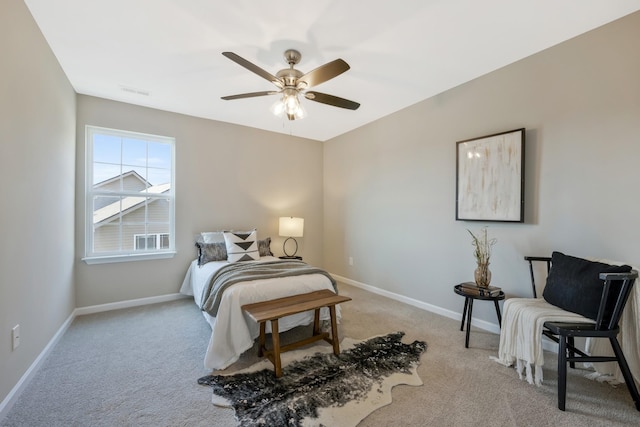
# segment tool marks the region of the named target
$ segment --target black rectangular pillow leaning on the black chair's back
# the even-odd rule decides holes
[[[628,265],[604,264],[553,252],[551,270],[542,297],[556,307],[595,320],[604,286],[604,281],[598,277],[600,273],[629,271],[631,267]],[[617,294],[616,284],[620,286],[620,281],[612,282],[609,295]],[[615,299],[609,298],[605,306],[605,318],[613,311],[614,305]]]

